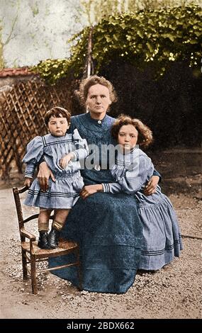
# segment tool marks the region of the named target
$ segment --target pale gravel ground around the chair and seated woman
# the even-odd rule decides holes
[[[174,203],[182,234],[201,237],[201,162],[198,162],[201,152],[191,157],[184,152],[183,160],[176,151],[164,152],[153,159],[157,159],[155,164],[163,174],[162,187]],[[166,168],[168,160],[172,161],[172,170],[170,166]],[[21,182],[18,174],[12,177],[10,186]],[[184,237],[179,259],[156,273],[139,272],[133,286],[123,295],[79,292],[71,283],[51,273],[40,274],[38,295],[33,295],[30,281],[22,279],[11,187],[6,188],[8,182],[2,181],[0,186],[1,318],[201,318],[201,239],[197,238]],[[28,213],[30,208],[25,209],[25,214]],[[35,228],[28,226],[30,231]]]

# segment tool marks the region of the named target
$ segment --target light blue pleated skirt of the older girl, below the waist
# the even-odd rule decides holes
[[[169,198],[163,193],[158,200],[145,196],[138,203],[138,213],[143,226],[140,269],[157,270],[169,264],[182,249],[181,232],[176,213]]]

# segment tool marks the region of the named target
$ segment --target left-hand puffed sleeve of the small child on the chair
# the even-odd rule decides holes
[[[35,137],[26,147],[26,155],[23,157],[23,163],[26,163],[25,176],[32,178],[35,166],[43,157],[43,140],[42,137]]]

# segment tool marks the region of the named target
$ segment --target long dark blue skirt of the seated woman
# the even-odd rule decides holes
[[[95,193],[79,198],[61,237],[79,242],[84,290],[125,293],[133,285],[142,245],[142,222],[132,196]],[[67,264],[72,256],[50,259],[50,267]],[[77,268],[54,271],[78,286]]]

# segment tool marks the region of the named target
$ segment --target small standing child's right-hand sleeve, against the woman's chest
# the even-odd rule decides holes
[[[79,135],[78,130],[74,130],[72,134],[73,140],[74,140],[74,156],[75,159],[73,161],[78,161],[79,159],[85,159],[89,154],[89,148],[86,142],[86,139],[82,139],[82,137]]]

